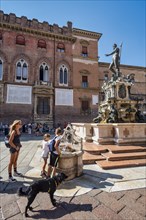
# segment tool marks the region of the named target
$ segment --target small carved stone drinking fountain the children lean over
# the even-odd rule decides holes
[[[57,171],[69,176],[68,180],[80,176],[83,172],[82,138],[75,134],[71,124],[64,129],[60,142],[61,157]]]

